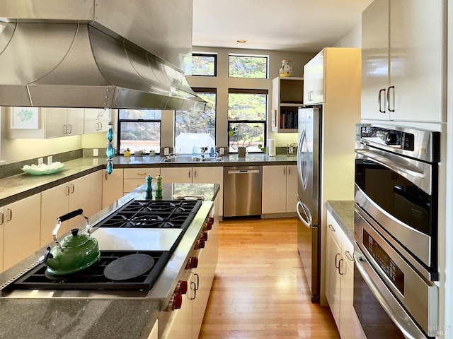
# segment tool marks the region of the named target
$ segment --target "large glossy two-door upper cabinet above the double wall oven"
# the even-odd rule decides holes
[[[446,121],[446,8],[375,0],[362,13],[362,119]]]

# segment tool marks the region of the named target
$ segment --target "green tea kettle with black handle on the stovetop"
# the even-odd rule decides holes
[[[86,228],[81,234],[79,229],[74,228],[71,234],[58,241],[58,230],[62,222],[81,215],[86,220]],[[84,210],[74,210],[57,218],[57,226],[52,232],[57,246],[52,249],[47,247],[45,254],[38,259],[38,263],[47,265],[47,272],[51,275],[69,275],[79,273],[93,266],[101,257],[98,241],[90,235],[89,220],[84,215]]]

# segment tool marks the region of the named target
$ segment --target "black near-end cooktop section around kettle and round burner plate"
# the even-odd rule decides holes
[[[103,272],[109,263],[130,254],[147,254],[154,259],[154,266],[130,280],[115,281],[105,277]],[[170,251],[101,251],[101,258],[95,266],[64,277],[49,276],[47,266],[42,263],[21,275],[5,290],[151,290],[170,256]]]

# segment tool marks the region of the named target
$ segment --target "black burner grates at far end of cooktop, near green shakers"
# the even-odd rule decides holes
[[[185,229],[192,222],[201,203],[201,201],[133,200],[94,226]]]

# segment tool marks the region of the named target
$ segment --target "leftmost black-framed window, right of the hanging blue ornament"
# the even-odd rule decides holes
[[[155,150],[161,148],[161,117],[158,109],[120,109],[118,112],[118,147],[120,153],[129,148],[136,150]]]

